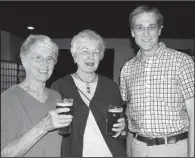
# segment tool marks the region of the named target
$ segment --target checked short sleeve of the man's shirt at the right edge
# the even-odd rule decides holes
[[[185,100],[194,97],[194,61],[190,56],[182,60],[179,71],[179,84]]]

